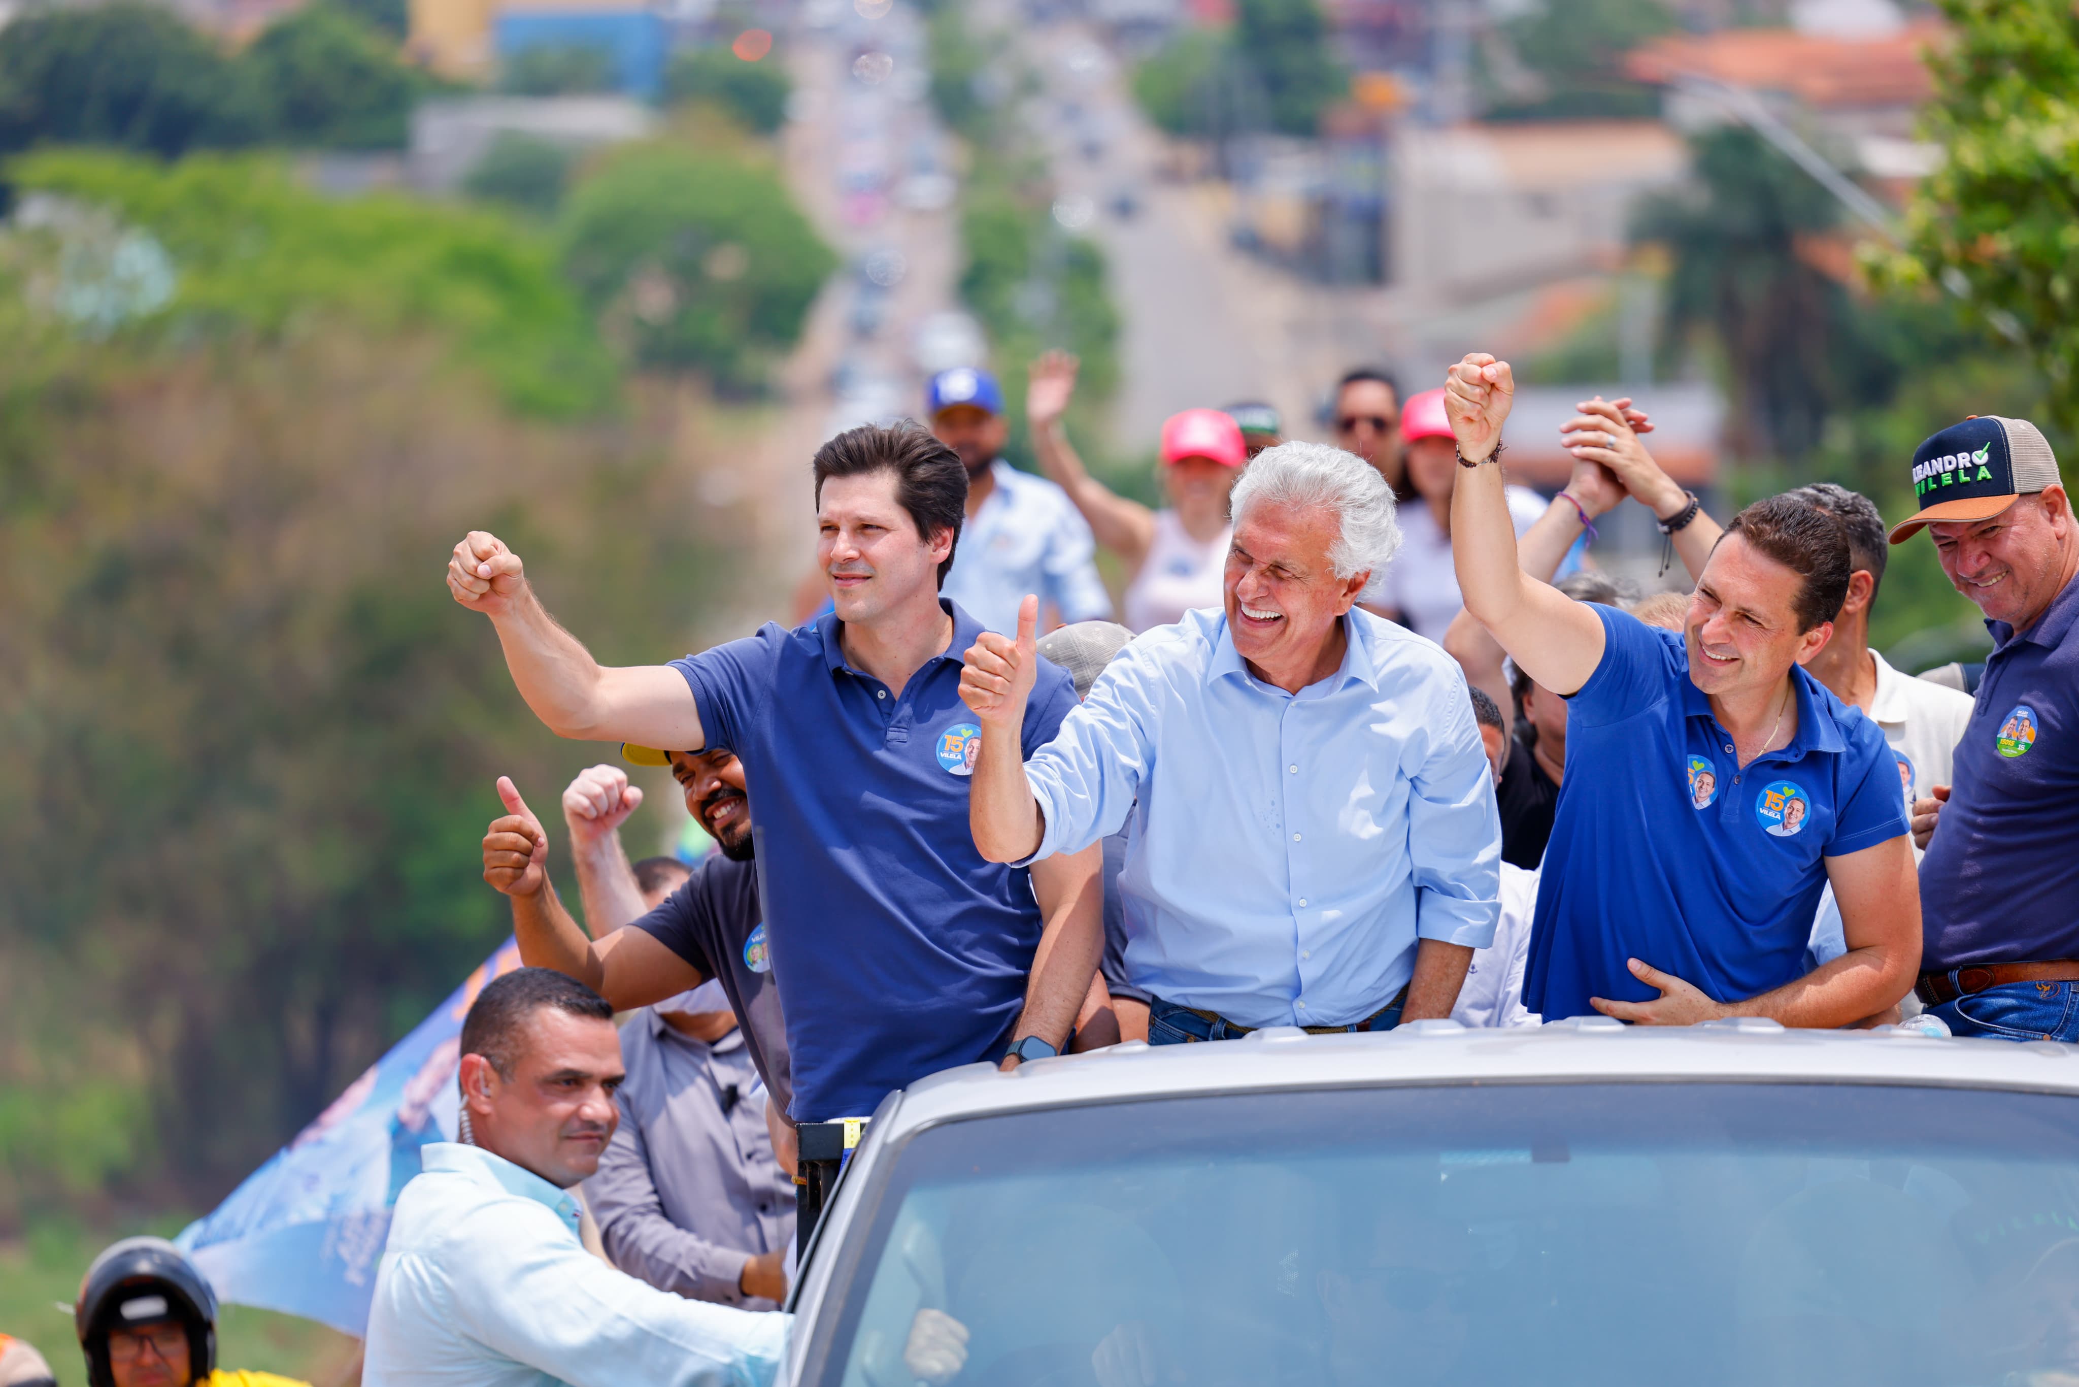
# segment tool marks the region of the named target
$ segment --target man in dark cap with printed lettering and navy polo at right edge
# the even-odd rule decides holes
[[[1919,994],[1958,1036],[2079,1040],[2079,526],[2042,430],[1969,418],[1913,453],[1942,572],[1994,649],[1956,784],[1915,803]],[[1944,803],[1946,801],[1946,803]]]

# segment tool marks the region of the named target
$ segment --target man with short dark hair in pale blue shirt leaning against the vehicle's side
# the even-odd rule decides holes
[[[397,1198],[364,1387],[767,1387],[792,1318],[659,1291],[578,1241],[572,1185],[613,1137],[613,1009],[551,969],[493,979],[462,1025],[462,1142]],[[965,1331],[921,1310],[904,1362],[942,1385]]]

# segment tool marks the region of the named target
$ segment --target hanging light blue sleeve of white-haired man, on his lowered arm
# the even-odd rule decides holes
[[[1407,790],[1416,938],[1486,948],[1501,919],[1501,815],[1480,726],[1462,680],[1439,680],[1435,738]]]

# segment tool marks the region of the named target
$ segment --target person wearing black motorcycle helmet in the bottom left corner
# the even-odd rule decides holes
[[[310,1387],[216,1366],[216,1291],[164,1237],[125,1237],[94,1258],[73,1325],[89,1387]]]

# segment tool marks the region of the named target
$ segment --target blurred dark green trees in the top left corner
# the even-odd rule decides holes
[[[401,148],[412,102],[435,85],[393,35],[331,0],[277,19],[237,56],[160,4],[40,8],[0,29],[0,152]]]

